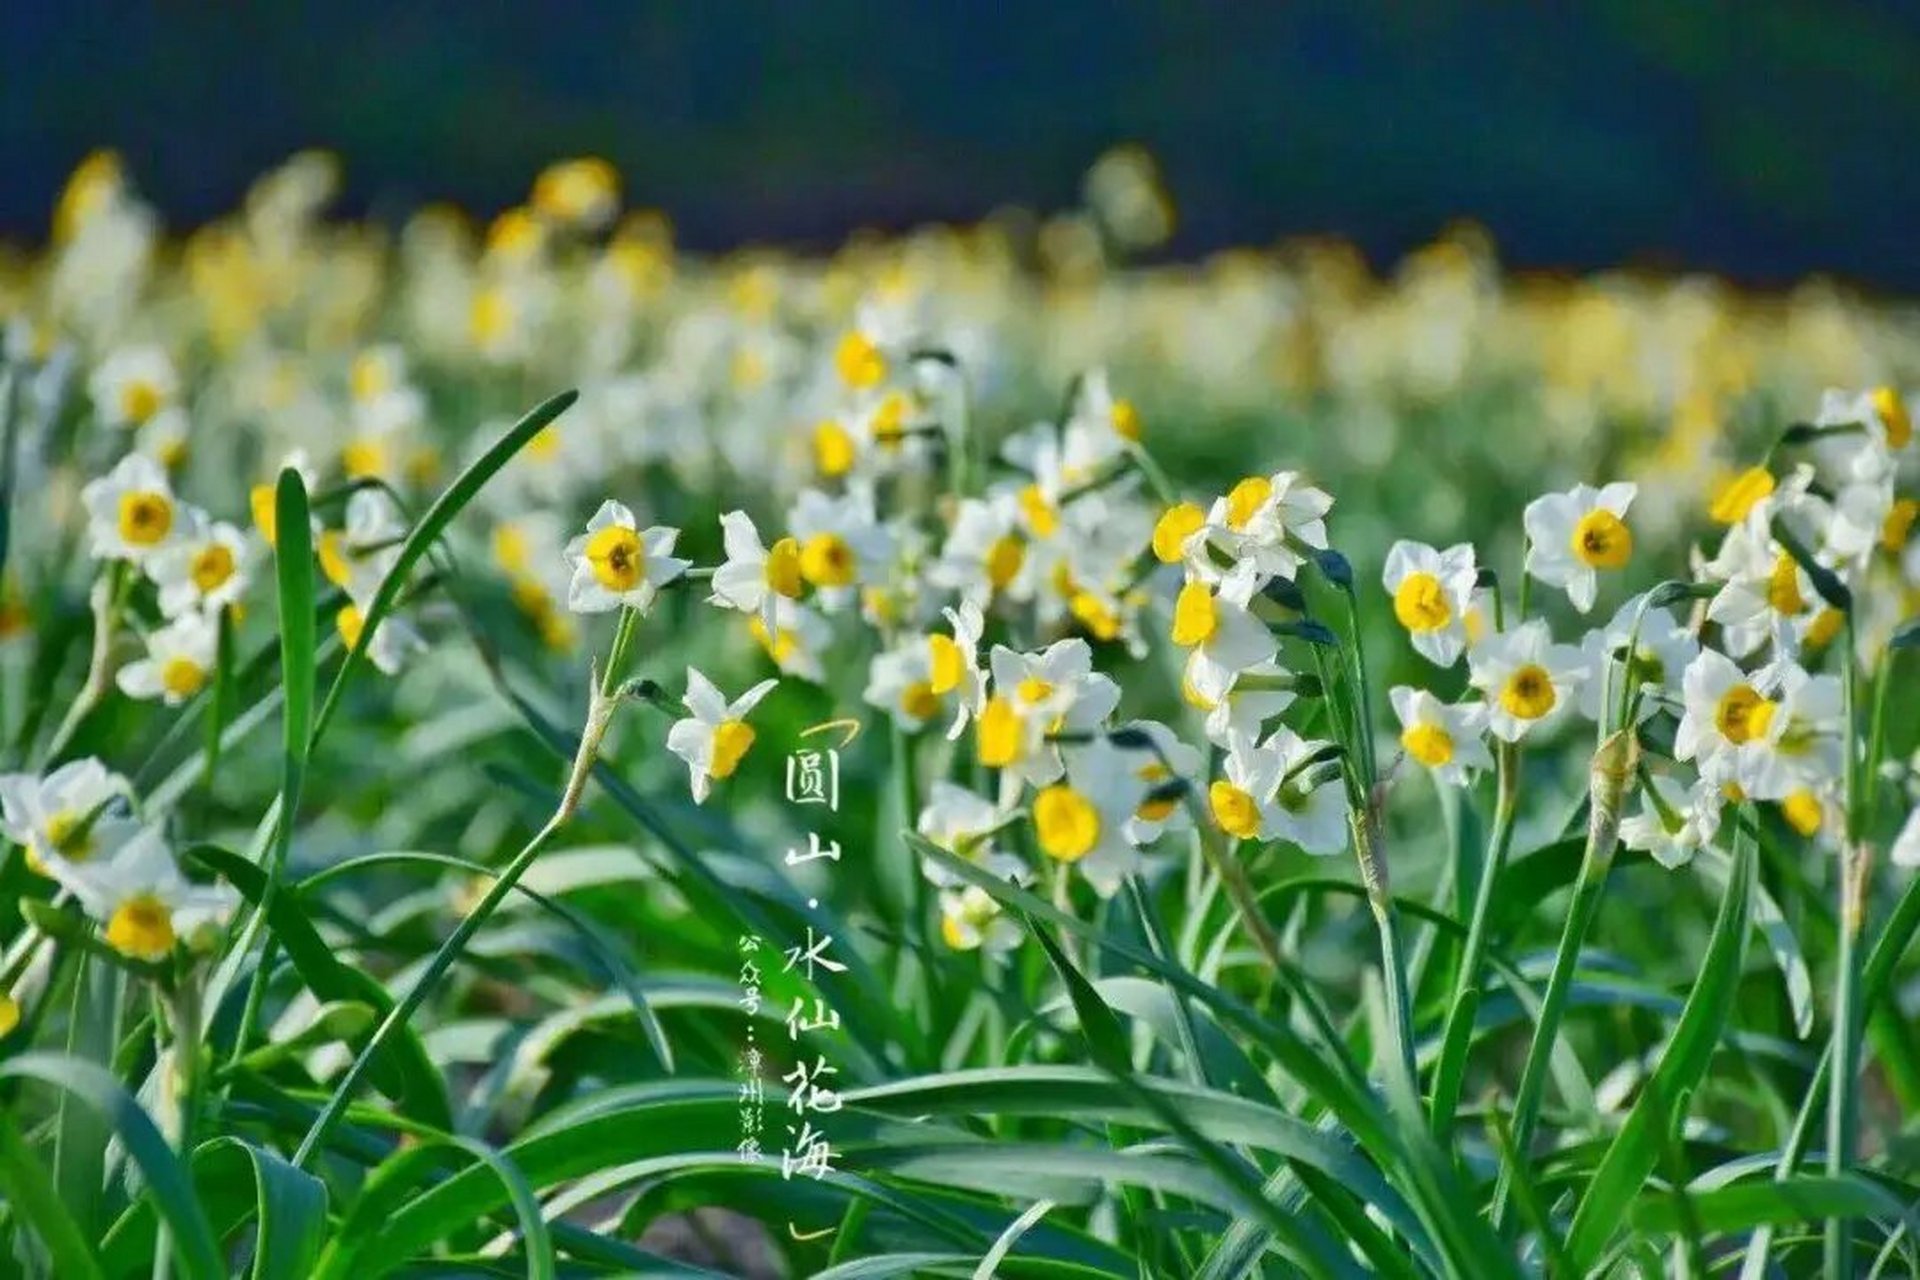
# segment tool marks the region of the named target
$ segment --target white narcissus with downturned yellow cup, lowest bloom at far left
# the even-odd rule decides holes
[[[142,827],[111,858],[50,864],[54,877],[100,921],[100,936],[121,956],[159,963],[179,942],[217,925],[238,894],[180,875],[159,827]]]

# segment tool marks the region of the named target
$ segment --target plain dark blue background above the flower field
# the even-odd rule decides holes
[[[1175,253],[1332,230],[1386,261],[1471,215],[1521,265],[1920,288],[1916,4],[15,0],[0,59],[12,238],[100,144],[175,225],[300,146],[376,215],[493,211],[597,152],[726,248],[1060,207],[1140,140]]]

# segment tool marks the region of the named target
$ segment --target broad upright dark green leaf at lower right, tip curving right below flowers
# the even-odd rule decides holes
[[[1740,967],[1747,950],[1747,917],[1753,906],[1753,844],[1736,835],[1734,869],[1720,898],[1707,942],[1707,960],[1699,981],[1688,996],[1680,1023],[1674,1027],[1667,1052],[1634,1102],[1626,1125],[1615,1136],[1599,1171],[1588,1184],[1567,1234],[1567,1251],[1584,1274],[1594,1267],[1607,1240],[1624,1224],[1626,1207],[1640,1196],[1647,1174],[1659,1163],[1667,1134],[1672,1132],[1674,1107],[1693,1096],[1707,1071],[1720,1032],[1734,1007]]]

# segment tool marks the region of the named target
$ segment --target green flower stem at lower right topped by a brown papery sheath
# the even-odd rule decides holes
[[[1592,771],[1592,812],[1586,823],[1586,854],[1580,860],[1580,879],[1572,889],[1572,904],[1567,910],[1567,927],[1561,931],[1559,952],[1553,956],[1553,973],[1548,977],[1546,996],[1540,1000],[1540,1021],[1534,1027],[1534,1040],[1526,1048],[1526,1065],[1521,1069],[1521,1086],[1513,1096],[1513,1148],[1501,1165],[1500,1182],[1494,1186],[1494,1228],[1500,1230],[1513,1174],[1528,1159],[1534,1140],[1534,1125],[1540,1119],[1540,1102],[1546,1096],[1548,1063],[1553,1046],[1559,1042],[1559,1025],[1567,1015],[1567,998],[1572,992],[1574,971],[1580,967],[1580,948],[1599,915],[1599,900],[1607,889],[1607,871],[1613,867],[1613,852],[1620,842],[1620,810],[1626,802],[1628,785],[1640,764],[1640,743],[1632,729],[1617,729],[1594,752]]]

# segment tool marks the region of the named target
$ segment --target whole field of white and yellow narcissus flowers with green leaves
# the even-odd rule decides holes
[[[0,257],[0,1270],[1920,1274],[1920,309],[336,167]]]

